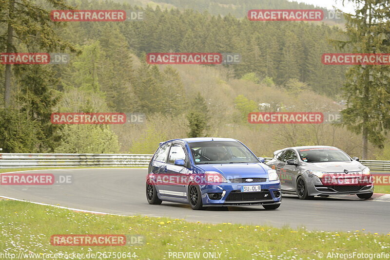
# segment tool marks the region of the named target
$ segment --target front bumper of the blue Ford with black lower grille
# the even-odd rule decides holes
[[[240,192],[240,186],[260,185],[261,191],[257,194],[254,192]],[[262,182],[262,183],[223,183],[219,185],[200,186],[202,191],[203,205],[223,206],[223,205],[261,205],[261,204],[280,204],[281,186],[279,181]],[[277,195],[277,192],[279,191]],[[222,198],[213,200],[208,194],[218,193]],[[222,194],[221,194],[222,193]],[[232,196],[229,196],[231,195]]]

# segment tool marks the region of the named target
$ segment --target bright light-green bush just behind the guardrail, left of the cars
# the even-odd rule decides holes
[[[117,153],[117,135],[105,125],[66,125],[58,153]]]

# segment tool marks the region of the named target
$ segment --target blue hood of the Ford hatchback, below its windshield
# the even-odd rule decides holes
[[[202,164],[196,165],[204,171],[216,171],[221,173],[226,179],[234,178],[268,178],[270,167],[261,163],[251,164]]]

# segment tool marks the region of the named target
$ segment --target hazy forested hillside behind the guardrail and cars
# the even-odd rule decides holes
[[[349,67],[321,62],[323,53],[341,52],[333,44],[345,39],[338,25],[249,21],[246,12],[258,8],[254,0],[242,1],[238,7],[231,0],[134,1],[134,5],[120,0],[27,2],[31,5],[15,7],[13,19],[20,26],[15,26],[13,52],[65,53],[69,62],[12,66],[11,106],[1,104],[3,152],[153,153],[164,140],[218,136],[236,138],[258,156],[270,157],[276,149],[298,145],[332,145],[351,156],[360,154],[361,136],[340,125],[253,125],[247,120],[254,111],[345,108],[343,86]],[[264,8],[313,8],[286,0],[263,4]],[[49,19],[51,10],[65,6],[137,10],[145,19]],[[0,19],[7,11],[2,8]],[[1,26],[0,34],[0,52],[9,52],[6,26]],[[241,62],[146,62],[148,53],[172,52],[236,53]],[[0,70],[0,93],[4,93],[4,64]],[[146,120],[124,125],[53,125],[50,115],[55,112],[142,113]],[[386,158],[390,148],[370,145],[370,159]]]

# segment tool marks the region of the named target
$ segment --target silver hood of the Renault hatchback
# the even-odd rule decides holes
[[[365,167],[358,161],[351,162],[321,162],[321,163],[301,163],[301,166],[311,170],[321,170],[326,172],[343,172],[345,169],[349,172],[361,171]]]

